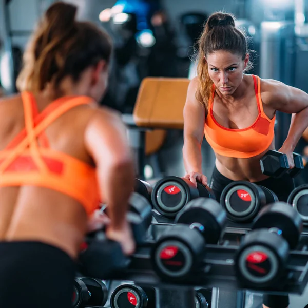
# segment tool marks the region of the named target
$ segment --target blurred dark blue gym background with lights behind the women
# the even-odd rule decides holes
[[[38,16],[53,0],[0,0],[0,96],[16,92],[21,57]],[[302,0],[69,0],[80,7],[79,18],[97,23],[114,41],[109,89],[102,105],[131,114],[140,82],[146,76],[192,78],[194,44],[208,14],[235,14],[238,26],[251,38],[254,68],[250,73],[273,78],[308,91],[308,16]],[[278,114],[276,147],[286,137],[290,115]],[[308,143],[300,140],[296,151]],[[155,181],[165,175],[184,175],[183,131],[169,130],[160,148],[146,156],[144,175]],[[202,144],[203,170],[210,177],[214,154]],[[308,153],[308,151],[307,151]],[[305,169],[297,177],[306,183]],[[227,291],[226,291],[227,292]],[[260,307],[249,295],[247,308]],[[254,298],[254,300],[252,300]],[[306,299],[305,299],[306,298]],[[291,296],[291,308],[307,304],[305,295]],[[228,308],[227,302],[224,305]],[[230,307],[231,308],[231,307]]]

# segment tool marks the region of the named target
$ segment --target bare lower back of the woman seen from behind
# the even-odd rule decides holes
[[[87,225],[79,202],[35,186],[1,187],[0,194],[0,241],[39,241],[78,257]]]

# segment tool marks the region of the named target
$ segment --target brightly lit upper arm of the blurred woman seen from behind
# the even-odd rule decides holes
[[[86,149],[99,169],[131,161],[126,126],[111,110],[95,112],[85,130]]]

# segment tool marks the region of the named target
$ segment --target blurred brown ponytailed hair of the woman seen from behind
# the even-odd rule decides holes
[[[18,90],[38,92],[48,83],[55,90],[65,76],[78,81],[87,67],[100,60],[109,63],[109,35],[94,24],[76,21],[76,12],[76,6],[64,2],[45,12],[24,53]]]

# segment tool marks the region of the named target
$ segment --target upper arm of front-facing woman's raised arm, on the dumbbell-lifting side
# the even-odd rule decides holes
[[[263,89],[262,89],[263,88]],[[264,104],[285,113],[298,113],[308,107],[308,94],[276,80],[262,80]]]

